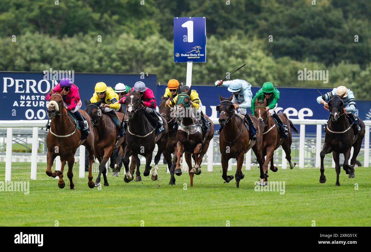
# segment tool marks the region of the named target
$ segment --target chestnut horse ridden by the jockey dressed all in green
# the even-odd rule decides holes
[[[284,124],[288,127],[288,138],[281,138],[280,133],[276,127],[275,122],[273,121],[272,117],[269,115],[267,111],[267,100],[264,98],[264,101],[257,100],[255,101],[255,116],[262,124],[263,128],[263,171],[264,173],[268,174],[268,164],[270,162],[270,169],[273,172],[278,171],[277,167],[273,164],[273,154],[274,151],[282,145],[283,151],[286,153],[286,159],[289,161],[290,169],[293,169],[296,165],[295,162],[291,162],[291,144],[292,144],[292,137],[290,129],[293,129],[296,133],[299,133],[292,122],[289,120],[286,114],[279,114],[279,117],[283,121]],[[266,158],[264,158],[266,156]],[[268,176],[262,179],[259,185],[266,185]]]

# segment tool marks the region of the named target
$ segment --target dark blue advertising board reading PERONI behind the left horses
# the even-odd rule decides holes
[[[1,88],[1,118],[0,120],[43,120],[47,119],[45,95],[50,88],[59,83],[59,78],[53,81],[43,73],[0,72]],[[85,99],[90,100],[97,82],[115,87],[124,83],[133,87],[137,81],[143,81],[156,95],[157,75],[148,74],[94,74],[74,73],[73,83],[79,87],[82,109]]]

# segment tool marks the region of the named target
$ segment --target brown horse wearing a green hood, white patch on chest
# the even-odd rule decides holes
[[[178,89],[176,119],[179,126],[177,131],[177,161],[174,173],[178,176],[182,174],[180,169],[180,158],[184,153],[185,162],[187,162],[188,165],[190,184],[191,187],[193,187],[193,176],[194,174],[201,174],[202,159],[209,148],[210,140],[214,137],[214,123],[211,121],[210,130],[206,132],[206,134],[202,131],[194,108],[190,108],[191,91],[192,87],[190,87],[187,93],[180,93],[180,89]],[[209,120],[207,115],[205,115],[205,117]],[[195,162],[194,167],[192,167],[191,157]]]

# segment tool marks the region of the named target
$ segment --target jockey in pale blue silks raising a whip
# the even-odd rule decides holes
[[[230,81],[216,81],[215,85],[217,87],[223,86],[228,87],[228,91],[234,94],[232,98],[232,103],[234,105],[234,109],[238,108],[238,112],[241,115],[245,116],[245,120],[249,121],[249,124],[252,126],[252,136],[253,139],[256,139],[256,128],[254,123],[252,122],[251,118],[247,115],[246,109],[251,107],[251,97],[253,96],[251,92],[251,84],[245,80],[230,80]],[[223,130],[222,127],[217,131],[220,134],[220,131]]]

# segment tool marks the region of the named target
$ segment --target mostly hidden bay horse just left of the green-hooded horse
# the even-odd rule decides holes
[[[169,185],[175,185],[175,176],[174,176],[174,168],[177,159],[177,129],[174,129],[174,125],[176,124],[175,117],[173,116],[174,113],[171,113],[171,108],[166,107],[165,103],[167,101],[167,97],[164,98],[164,95],[161,95],[161,102],[160,106],[158,106],[158,110],[162,117],[165,118],[167,121],[167,125],[169,128],[168,140],[162,155],[167,162],[167,167],[170,171],[170,182]],[[174,158],[171,157],[171,154],[174,153]]]

